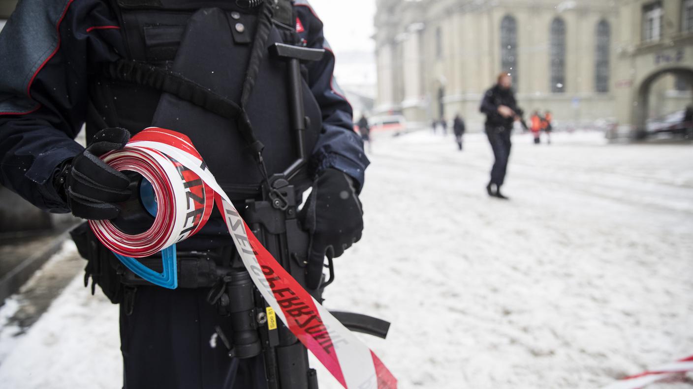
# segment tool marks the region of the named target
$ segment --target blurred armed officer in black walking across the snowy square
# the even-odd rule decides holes
[[[522,116],[522,111],[516,104],[511,88],[511,76],[507,73],[501,73],[498,75],[498,82],[484,93],[480,107],[480,111],[486,114],[486,136],[489,138],[495,157],[493,168],[491,168],[491,181],[486,185],[486,192],[489,193],[489,196],[499,199],[507,199],[500,192],[500,187],[505,182],[513,124]]]

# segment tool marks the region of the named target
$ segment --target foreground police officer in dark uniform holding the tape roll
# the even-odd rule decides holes
[[[277,43],[326,51],[301,65],[310,158],[290,180],[297,198],[313,188],[306,262],[322,269],[324,257],[360,239],[368,160],[333,80],[322,21],[304,0],[20,1],[0,34],[0,183],[44,210],[146,229],[123,205],[137,189],[133,177],[98,156],[157,126],[189,136],[242,209],[299,153],[288,65],[270,50]],[[74,141],[82,125],[86,149]],[[121,305],[125,388],[266,387],[262,355],[229,358],[216,329],[230,319],[209,304],[208,287],[195,287],[200,274],[175,290],[127,284],[87,226],[73,238],[87,277]],[[178,244],[179,260],[230,266],[232,245],[215,211]]]

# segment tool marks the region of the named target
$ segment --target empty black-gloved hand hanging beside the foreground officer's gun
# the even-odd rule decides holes
[[[324,170],[313,183],[313,192],[301,212],[310,232],[306,284],[315,289],[325,256],[339,257],[361,239],[363,210],[353,179],[340,170]]]

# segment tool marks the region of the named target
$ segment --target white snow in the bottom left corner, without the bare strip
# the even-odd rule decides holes
[[[67,242],[58,255],[75,250]],[[3,388],[121,388],[118,307],[100,293],[91,296],[82,279],[77,275],[13,345],[0,365]],[[10,330],[2,328],[3,343]]]

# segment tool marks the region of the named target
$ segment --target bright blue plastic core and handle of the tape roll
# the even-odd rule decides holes
[[[139,197],[147,212],[155,217],[158,209],[157,198],[154,195],[154,188],[152,188],[152,184],[146,179],[142,179],[142,182],[140,183]],[[134,258],[125,257],[125,255],[120,255],[118,253],[114,253],[114,255],[116,255],[116,257],[123,262],[123,264],[128,267],[132,273],[139,275],[143,280],[168,289],[176,289],[178,287],[178,269],[175,244],[161,250],[161,264],[163,265],[163,271],[161,271],[161,273],[157,273],[156,271],[149,269],[147,266],[144,266],[141,262]]]

